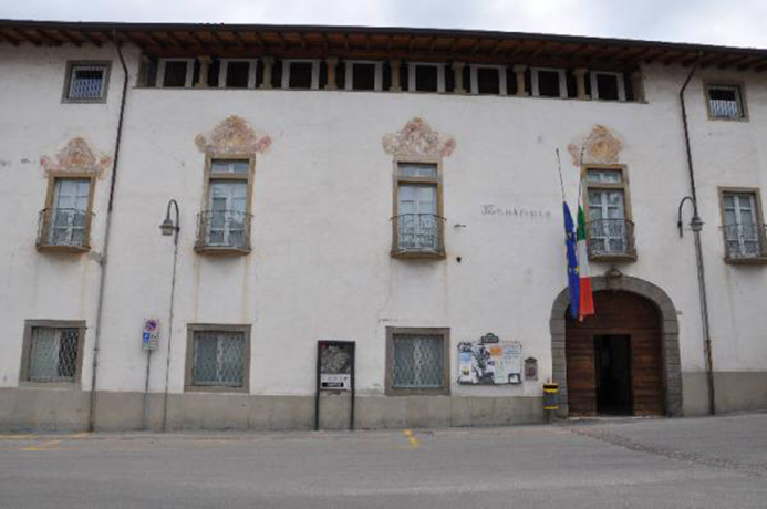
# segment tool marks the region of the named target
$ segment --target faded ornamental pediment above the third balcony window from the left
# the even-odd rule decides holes
[[[417,116],[401,131],[383,137],[386,154],[397,157],[448,157],[455,147],[455,139],[443,138],[426,121]]]

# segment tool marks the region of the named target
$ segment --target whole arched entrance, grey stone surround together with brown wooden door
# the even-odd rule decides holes
[[[618,399],[612,399],[612,403],[619,404],[616,405],[618,408],[612,408],[612,412],[620,413],[622,411],[636,415],[655,415],[660,412],[670,416],[682,415],[678,322],[676,309],[668,295],[649,281],[621,274],[618,271],[611,273],[610,277],[592,277],[592,287],[594,298],[598,299],[597,316],[588,320],[594,320],[594,322],[587,323],[584,321],[581,324],[568,321],[570,295],[567,288],[557,295],[551,309],[552,377],[559,384],[560,389],[558,415],[567,417],[570,414],[570,380],[572,380],[574,384],[572,388],[576,391],[572,401],[576,405],[572,408],[573,414],[593,415],[599,412],[595,392],[595,376],[599,373],[594,364],[598,361],[594,356],[595,349],[600,352],[598,354],[600,362],[603,359],[601,355],[607,352],[607,355],[616,357],[615,362],[623,360],[624,368],[633,370],[630,373],[632,377],[638,375],[638,380],[631,378],[630,381],[632,399],[626,403],[621,402],[620,396],[615,396]],[[571,355],[570,362],[568,361],[568,333],[573,335],[570,349],[573,355]],[[590,340],[585,339],[589,335]],[[628,342],[626,335],[629,336]],[[594,336],[601,336],[595,340],[597,343],[594,343]],[[636,351],[631,350],[632,336],[635,337]],[[581,345],[580,354],[577,353],[578,344]],[[589,344],[591,344],[590,351]],[[629,357],[631,364],[629,364]],[[639,366],[634,365],[636,359],[640,361]],[[616,364],[612,363],[612,366],[615,367]],[[615,367],[615,370],[618,368]],[[591,402],[583,399],[582,392],[587,386],[579,386],[581,383],[587,383],[588,373],[592,375],[590,378],[592,385],[589,389],[592,392],[592,396],[585,397],[587,399],[592,397]],[[604,378],[600,378],[600,384],[610,381],[610,376],[611,373],[604,373]],[[659,377],[660,384],[655,382]],[[625,396],[625,392],[623,395]],[[608,401],[603,403],[610,403],[610,395],[602,397],[608,397]],[[579,398],[581,401],[578,401]],[[622,408],[620,403],[623,403]]]

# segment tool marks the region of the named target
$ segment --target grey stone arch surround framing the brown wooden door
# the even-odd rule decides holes
[[[680,357],[680,326],[676,308],[671,298],[655,284],[631,276],[595,276],[591,278],[594,291],[621,290],[644,297],[653,302],[661,313],[661,339],[663,353],[663,381],[665,386],[665,405],[668,416],[682,415],[682,367]],[[564,351],[564,313],[570,305],[570,293],[567,288],[554,299],[549,321],[551,330],[552,377],[559,384],[559,415],[568,415],[568,376]]]

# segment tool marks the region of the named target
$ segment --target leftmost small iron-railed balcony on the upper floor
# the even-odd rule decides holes
[[[93,212],[74,208],[46,208],[38,217],[38,251],[85,252],[91,249]]]

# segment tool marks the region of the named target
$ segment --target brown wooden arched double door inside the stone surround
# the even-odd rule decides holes
[[[572,416],[664,415],[661,318],[634,293],[594,293],[597,314],[568,311],[566,354]]]

